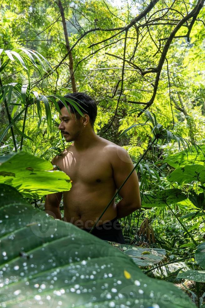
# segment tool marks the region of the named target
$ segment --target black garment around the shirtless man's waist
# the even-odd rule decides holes
[[[90,232],[91,228],[82,230]],[[95,227],[91,233],[105,241],[125,244],[121,225],[116,218]]]

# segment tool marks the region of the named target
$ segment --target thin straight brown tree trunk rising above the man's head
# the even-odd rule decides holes
[[[63,8],[60,0],[58,0],[56,3],[57,3],[57,5],[60,9],[60,15],[61,15],[61,18],[62,18],[63,30],[64,30],[64,35],[65,35],[65,40],[66,40],[66,49],[67,49],[67,52],[69,52],[71,47],[70,47],[70,43],[69,43],[69,40],[68,40],[68,32],[67,32],[67,28],[66,28],[66,19],[65,19],[65,14],[64,14],[64,8]],[[74,76],[74,73],[73,73],[72,52],[69,52],[68,57],[69,57],[69,69],[70,69],[70,75],[71,75],[72,90],[73,90],[73,92],[77,92],[76,91],[75,76]]]

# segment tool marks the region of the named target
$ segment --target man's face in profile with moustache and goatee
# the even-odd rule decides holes
[[[60,125],[58,129],[60,129],[67,142],[77,140],[83,131],[83,125],[80,119],[76,119],[74,113],[70,114],[66,107],[60,109],[60,112],[62,115],[59,115]]]

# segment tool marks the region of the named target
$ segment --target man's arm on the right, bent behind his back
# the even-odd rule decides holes
[[[118,189],[134,168],[126,150],[117,146],[112,155],[113,178]],[[119,191],[122,200],[117,204],[117,218],[126,217],[141,207],[139,181],[136,171],[130,175],[127,182]]]

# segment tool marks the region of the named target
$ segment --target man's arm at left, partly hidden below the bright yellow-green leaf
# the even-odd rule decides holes
[[[47,195],[45,198],[46,213],[48,213],[50,216],[53,216],[54,218],[57,218],[57,219],[62,219],[61,214],[60,214],[60,209],[59,209],[62,195],[63,193],[59,192],[56,194]]]

